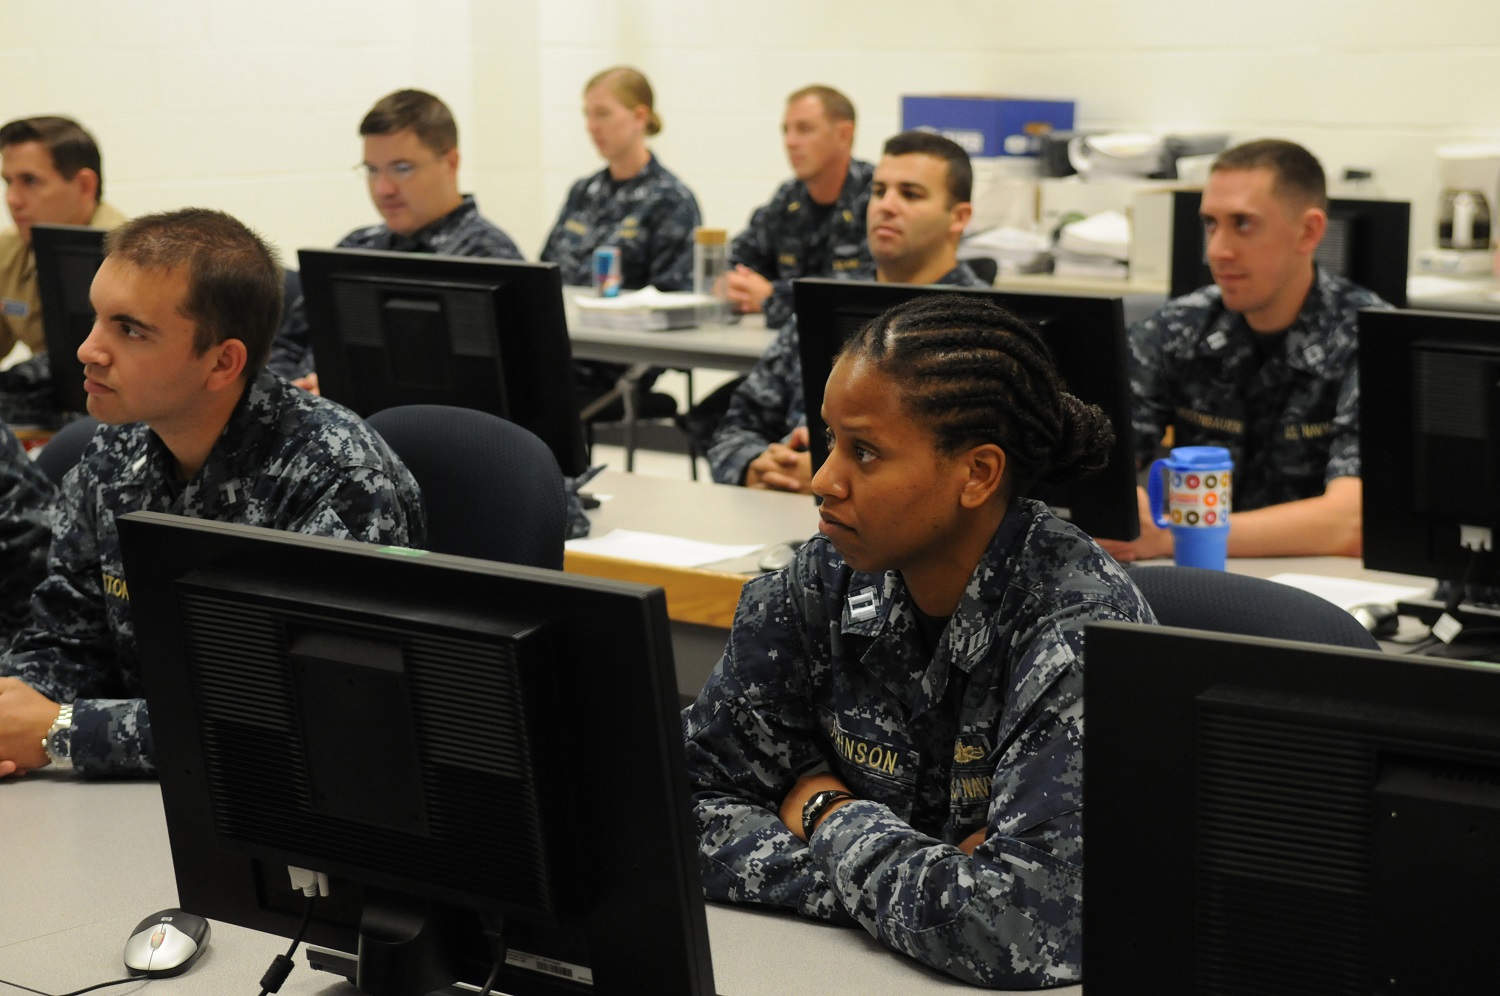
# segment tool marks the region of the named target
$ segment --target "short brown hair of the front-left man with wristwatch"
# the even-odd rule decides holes
[[[243,222],[207,207],[144,214],[106,234],[104,249],[141,270],[186,270],[182,312],[198,327],[194,350],[238,339],[244,380],[266,366],[280,326],[282,268]]]

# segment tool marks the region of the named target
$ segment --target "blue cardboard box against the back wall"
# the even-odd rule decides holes
[[[934,130],[970,156],[1035,156],[1041,136],[1072,128],[1072,100],[903,96],[902,129]]]

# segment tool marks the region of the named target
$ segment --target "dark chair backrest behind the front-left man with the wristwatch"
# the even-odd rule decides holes
[[[562,471],[534,434],[446,405],[387,408],[369,424],[422,486],[429,550],[562,570]]]

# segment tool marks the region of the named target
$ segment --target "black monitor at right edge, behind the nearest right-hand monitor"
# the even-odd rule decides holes
[[[1500,316],[1362,310],[1359,394],[1365,567],[1500,585]]]

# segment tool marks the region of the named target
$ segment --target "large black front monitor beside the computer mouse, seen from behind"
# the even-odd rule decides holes
[[[660,588],[134,513],[180,906],[416,996],[711,996]],[[408,939],[405,942],[393,938]],[[592,988],[580,981],[592,980]]]

